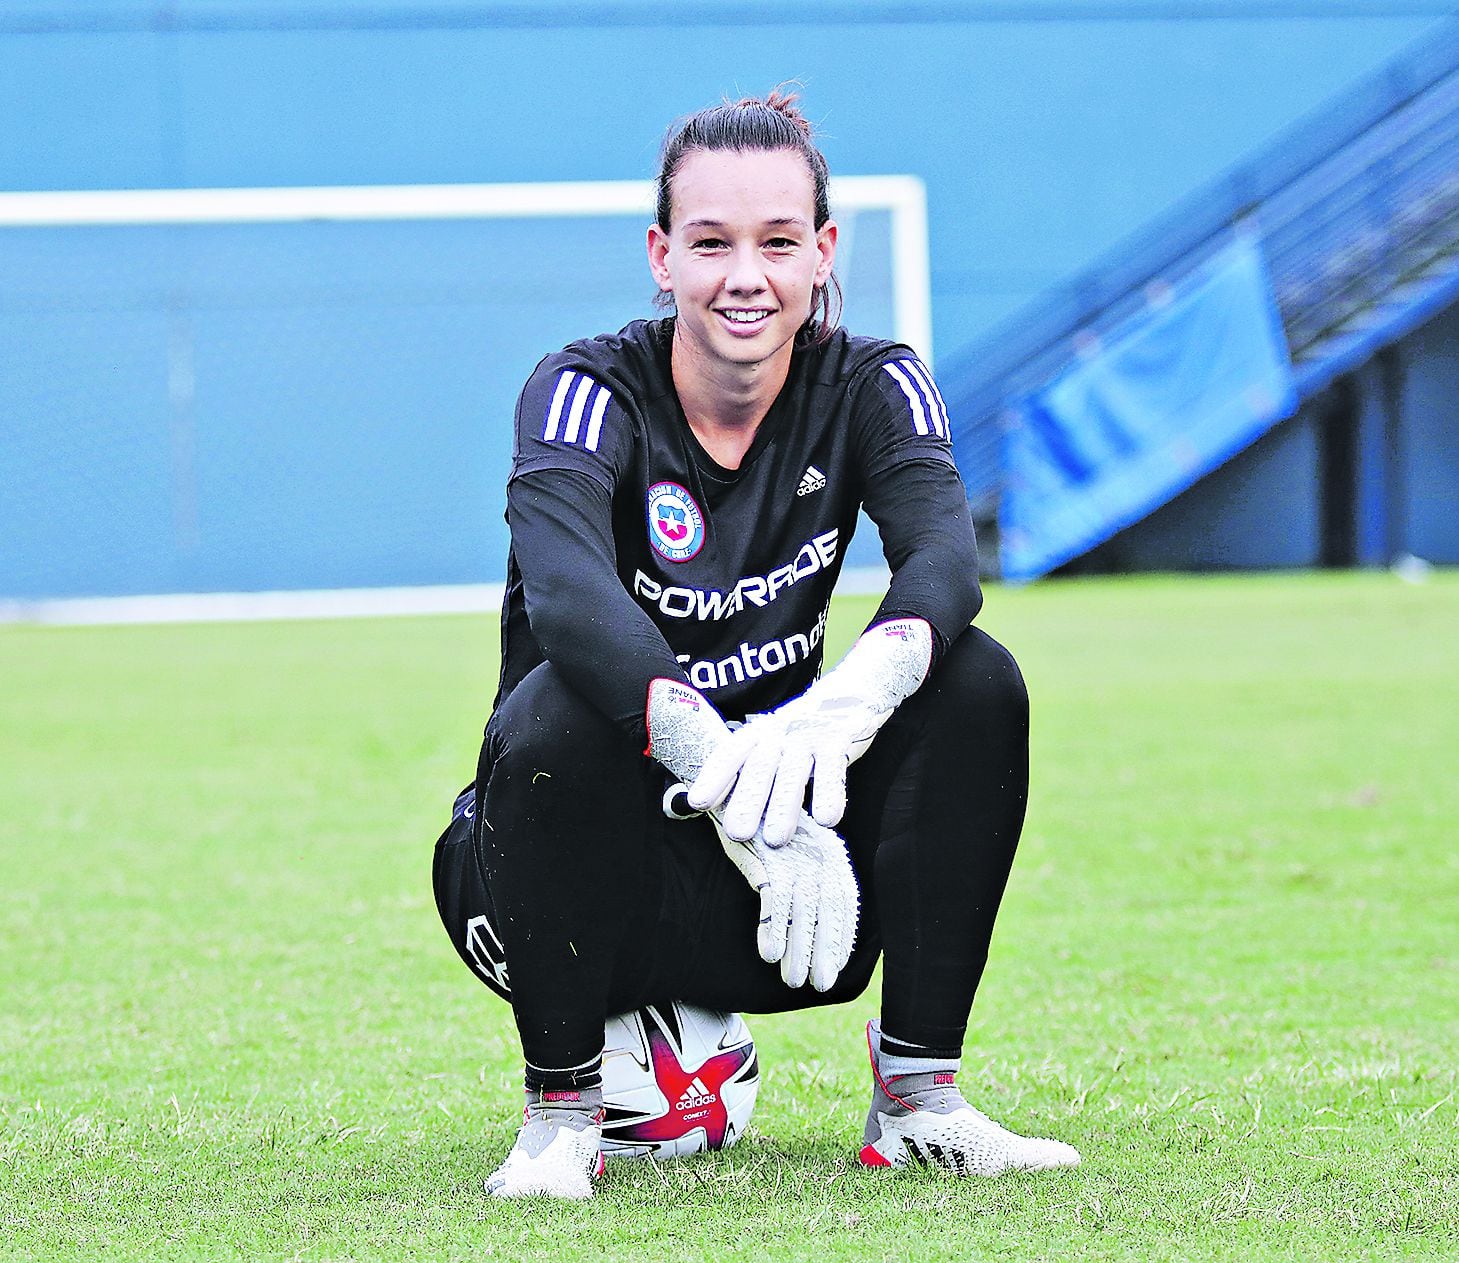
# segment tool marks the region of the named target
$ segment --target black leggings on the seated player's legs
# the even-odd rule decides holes
[[[851,767],[837,831],[861,882],[856,947],[829,992],[792,989],[756,951],[757,895],[709,821],[665,818],[664,773],[544,664],[487,723],[474,798],[436,846],[436,901],[538,1068],[591,1062],[607,1015],[643,1003],[854,999],[878,957],[886,1028],[961,1047],[1027,786],[1023,677],[972,627]]]

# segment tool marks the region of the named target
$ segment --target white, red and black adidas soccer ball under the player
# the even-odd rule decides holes
[[[680,1158],[744,1135],[760,1063],[738,1014],[651,1005],[608,1018],[603,1049],[603,1154]]]

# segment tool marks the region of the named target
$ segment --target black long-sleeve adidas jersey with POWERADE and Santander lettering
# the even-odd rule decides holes
[[[937,650],[982,604],[947,410],[905,346],[797,347],[738,470],[674,391],[673,319],[547,356],[516,405],[498,704],[553,662],[639,739],[655,677],[727,718],[802,693],[865,506],[891,586],[872,621],[926,618]]]

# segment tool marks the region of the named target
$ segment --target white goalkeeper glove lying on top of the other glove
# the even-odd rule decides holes
[[[770,847],[785,846],[811,782],[816,823],[837,824],[846,811],[848,766],[922,685],[931,665],[925,618],[878,623],[800,697],[716,741],[689,783],[690,807],[712,808],[730,837],[759,834]]]

